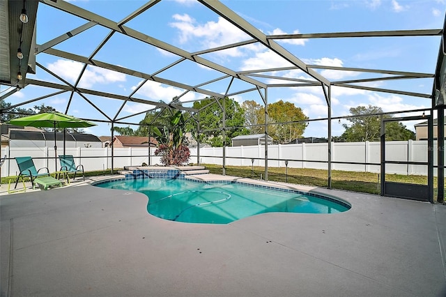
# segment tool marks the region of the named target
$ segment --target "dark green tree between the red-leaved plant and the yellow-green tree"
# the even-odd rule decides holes
[[[205,98],[201,101],[194,102],[193,107],[195,109],[201,109],[199,112],[200,128],[207,130],[200,132],[200,135],[197,135],[197,132],[195,132],[194,137],[196,139],[198,137],[201,143],[207,143],[211,146],[223,146],[223,140],[229,143],[233,137],[249,134],[249,130],[244,127],[245,110],[240,107],[236,100],[226,97],[224,98],[224,105],[226,107],[226,139],[223,139],[223,111],[216,100],[223,106],[223,99],[221,98]],[[189,125],[195,124],[191,122]]]

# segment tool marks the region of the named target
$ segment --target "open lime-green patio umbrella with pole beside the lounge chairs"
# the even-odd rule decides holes
[[[32,116],[24,116],[22,118],[12,119],[8,123],[12,125],[22,125],[37,128],[54,128],[54,161],[57,170],[57,142],[56,128],[88,128],[94,123],[77,119],[74,116],[68,116],[60,112],[45,112],[43,114],[33,114]]]

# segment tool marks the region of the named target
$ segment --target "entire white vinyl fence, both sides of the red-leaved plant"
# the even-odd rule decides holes
[[[380,143],[379,142],[337,142],[332,143],[332,169],[351,172],[380,172]],[[434,142],[434,165],[437,164],[437,148]],[[151,165],[160,165],[160,158],[153,155],[151,149]],[[58,154],[63,153],[58,148]],[[1,176],[15,176],[18,173],[16,156],[29,155],[33,158],[36,168],[48,167],[50,172],[54,168],[54,149],[44,148],[2,148],[1,158],[6,155],[9,160],[1,167]],[[75,157],[76,165],[84,165],[86,171],[107,170],[112,168],[111,148],[66,148],[67,155]],[[140,166],[148,162],[147,148],[114,148],[114,168],[124,166]],[[223,148],[201,148],[199,161],[201,164],[223,164]],[[226,165],[254,166],[265,165],[265,147],[259,146],[230,146],[226,147]],[[268,146],[268,166],[285,167],[285,160],[289,160],[288,167],[327,169],[328,144],[278,144]],[[387,142],[386,160],[427,162],[427,142]],[[197,163],[197,148],[191,149],[190,162]],[[341,163],[336,163],[341,162]],[[345,162],[345,163],[344,163]],[[359,164],[348,164],[359,163]],[[377,165],[374,165],[377,164]],[[58,168],[60,165],[58,162]],[[388,164],[386,173],[427,175],[427,166]],[[436,170],[434,172],[436,174]]]

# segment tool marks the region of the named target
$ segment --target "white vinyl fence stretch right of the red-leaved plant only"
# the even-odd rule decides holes
[[[433,164],[437,165],[437,142],[433,143]],[[350,172],[380,172],[380,142],[332,142],[332,169]],[[427,141],[386,142],[387,161],[427,162]],[[191,150],[197,162],[197,149]],[[201,148],[200,163],[222,165],[222,148]],[[220,157],[220,158],[217,158]],[[241,158],[243,157],[243,158]],[[226,165],[265,166],[265,146],[230,146]],[[277,144],[268,146],[268,167],[327,169],[328,144]],[[339,163],[336,163],[339,162]],[[344,163],[345,162],[345,163]],[[360,164],[348,164],[360,163]],[[376,165],[374,165],[376,164]],[[387,174],[427,175],[427,166],[387,164]],[[436,169],[434,169],[436,175]]]

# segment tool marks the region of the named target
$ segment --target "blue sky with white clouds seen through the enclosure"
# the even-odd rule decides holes
[[[134,10],[144,5],[145,1],[105,1],[77,0],[70,1],[93,13],[109,20],[118,22],[130,15]],[[402,1],[402,0],[370,0],[370,1],[282,1],[282,0],[238,0],[222,1],[235,13],[243,17],[249,24],[267,35],[286,33],[330,33],[348,31],[387,31],[413,29],[442,29],[445,21],[446,0]],[[86,21],[56,10],[45,3],[39,3],[37,15],[37,43],[42,45],[47,41],[61,36],[72,29],[85,24]],[[149,10],[134,18],[125,26],[157,38],[187,52],[199,52],[208,48],[219,47],[251,39],[246,33],[236,28],[219,15],[213,13],[201,3],[189,0],[162,0]],[[54,46],[57,50],[72,52],[80,56],[90,56],[96,47],[109,33],[109,29],[96,25],[63,43]],[[276,40],[279,45],[298,56],[307,64],[323,66],[339,66],[348,68],[373,68],[382,70],[399,70],[416,73],[434,73],[440,45],[440,36],[430,37],[397,37],[397,38],[312,38],[295,40]],[[202,54],[201,57],[220,63],[232,70],[258,70],[290,66],[289,62],[277,57],[262,45],[250,44],[230,50]],[[179,56],[151,45],[137,42],[119,33],[109,39],[95,56],[94,60],[110,63],[116,66],[130,68],[148,74],[178,61]],[[84,64],[62,59],[51,54],[40,53],[36,61],[47,70],[75,84]],[[377,77],[376,74],[365,74],[353,71],[317,70],[330,81],[344,79],[362,79]],[[263,73],[274,75],[275,73]],[[277,73],[276,73],[277,74]],[[298,79],[312,79],[302,71],[286,70],[281,75]],[[162,71],[157,77],[171,79],[188,85],[198,85],[209,82],[222,73],[197,65],[191,61],[178,63],[174,68]],[[63,84],[60,79],[49,74],[43,68],[37,67],[36,75],[28,74],[27,78],[45,80]],[[283,83],[277,79],[253,77],[268,84]],[[93,89],[107,93],[129,96],[139,87],[142,79],[125,75],[112,70],[88,66],[78,87]],[[202,89],[224,94],[229,87],[230,79],[222,79],[201,86]],[[431,93],[432,79],[402,79],[364,84],[382,89],[397,89],[415,93]],[[3,94],[8,86],[0,86]],[[251,89],[252,85],[236,80],[231,84],[229,93]],[[40,86],[26,86],[20,92],[14,93],[6,101],[16,104],[31,98],[45,97],[56,90]],[[175,96],[180,96],[183,89],[147,82],[134,94],[137,98],[169,102]],[[98,96],[75,95],[70,101],[68,114],[82,119],[117,119],[132,116],[148,109],[146,105],[135,102],[127,103],[121,112],[121,100],[104,100]],[[203,94],[189,92],[180,98],[185,106],[187,101],[204,98]],[[245,100],[255,100],[261,103],[258,92],[242,93],[231,98],[242,103]],[[60,112],[66,112],[70,100],[70,92],[57,96],[49,96],[33,105],[51,105]],[[321,87],[286,87],[269,88],[268,102],[284,100],[293,102],[310,119],[327,117],[327,107]],[[92,107],[97,105],[98,109]],[[423,109],[431,107],[431,100],[402,96],[399,94],[364,91],[360,89],[332,88],[332,116],[346,116],[351,107],[359,105],[374,105],[384,112],[395,112],[408,109]],[[403,114],[403,115],[412,115]],[[420,113],[417,113],[420,115]],[[144,114],[132,116],[123,121],[138,123]],[[344,132],[342,123],[346,120],[332,122],[332,135]],[[413,122],[404,123],[414,130]],[[126,126],[126,125],[121,125]],[[130,125],[131,128],[137,128]],[[98,123],[97,126],[85,129],[94,135],[110,135],[108,123]],[[327,123],[311,122],[305,130],[305,137],[326,137]]]

